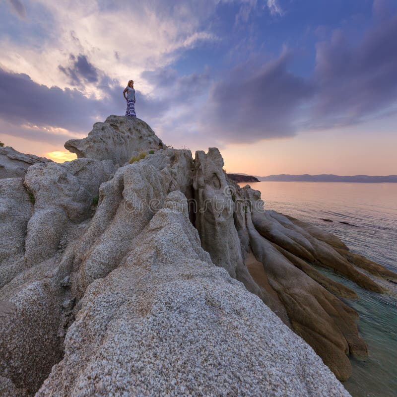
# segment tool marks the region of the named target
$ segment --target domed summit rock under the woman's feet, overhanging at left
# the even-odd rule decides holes
[[[123,165],[133,152],[165,149],[167,146],[143,121],[128,116],[109,116],[104,123],[95,123],[88,136],[70,139],[65,147],[77,158],[112,160]]]

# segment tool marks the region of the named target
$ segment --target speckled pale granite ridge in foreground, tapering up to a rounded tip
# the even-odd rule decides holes
[[[168,195],[78,304],[45,396],[349,396],[320,357],[211,263]]]

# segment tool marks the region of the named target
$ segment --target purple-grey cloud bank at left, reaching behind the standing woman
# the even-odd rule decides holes
[[[77,89],[49,88],[26,74],[0,69],[0,131],[63,144],[70,134],[87,133],[93,123],[109,114],[124,114],[123,87],[105,77],[99,88],[106,92],[100,100],[86,97]],[[142,118],[155,120],[169,107],[167,102],[151,100],[139,91],[137,98]]]

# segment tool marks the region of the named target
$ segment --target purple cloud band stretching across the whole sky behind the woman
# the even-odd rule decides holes
[[[188,145],[198,139],[255,142],[358,124],[396,111],[395,37],[396,16],[383,18],[355,44],[335,31],[331,40],[317,44],[316,67],[305,78],[291,72],[290,52],[268,62],[246,61],[215,82],[209,71],[181,76],[170,67],[146,70],[140,77],[153,91],[145,96],[137,90],[137,115],[159,126],[167,139],[181,136]],[[65,74],[80,88],[84,82],[95,83],[103,93],[100,100],[77,88],[49,88],[26,74],[0,69],[0,119],[19,127],[87,132],[109,114],[124,114],[124,85],[84,55],[70,61],[61,66]],[[21,129],[15,131],[22,136]]]

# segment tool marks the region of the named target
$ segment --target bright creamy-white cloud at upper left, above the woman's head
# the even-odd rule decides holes
[[[72,88],[84,76],[85,89],[94,93],[90,64],[124,84],[143,70],[170,65],[181,51],[217,40],[201,26],[217,0],[70,0],[67,10],[52,0],[26,1],[30,17],[17,25],[9,22],[9,30],[18,34],[0,38],[0,65],[47,86]],[[43,17],[46,23],[38,29]],[[70,54],[80,55],[73,62]],[[152,87],[142,82],[140,88]]]

